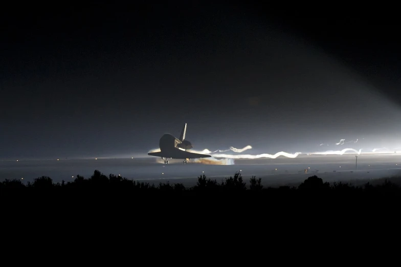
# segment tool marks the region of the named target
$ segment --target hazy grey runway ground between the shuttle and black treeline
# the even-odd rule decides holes
[[[382,177],[401,174],[401,154],[361,154],[358,164],[355,155],[302,155],[295,159],[235,160],[232,165],[210,165],[200,163],[183,164],[181,160],[170,160],[169,164],[158,163],[157,158],[141,159],[60,159],[60,160],[7,160],[0,161],[0,180],[23,179],[33,182],[36,177],[49,176],[55,183],[73,181],[77,174],[90,177],[94,170],[105,175],[120,174],[127,179],[149,182],[156,186],[160,182],[196,184],[196,177],[205,174],[217,182],[240,171],[244,181],[250,177],[262,179],[264,186],[297,185],[311,175],[318,175],[325,182],[351,181],[362,183]],[[307,170],[305,172],[305,170]],[[22,179],[21,179],[22,180]]]

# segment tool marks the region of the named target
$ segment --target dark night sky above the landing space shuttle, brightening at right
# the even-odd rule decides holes
[[[2,10],[0,158],[146,153],[183,123],[199,150],[401,146],[399,26],[377,16],[256,2],[20,8]]]

